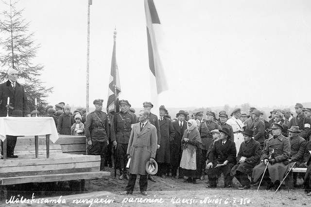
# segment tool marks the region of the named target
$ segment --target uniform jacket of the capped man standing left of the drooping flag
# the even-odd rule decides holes
[[[97,118],[100,118],[100,120]],[[92,111],[86,116],[85,134],[87,140],[92,142],[107,142],[110,136],[110,127],[107,114],[103,111]]]

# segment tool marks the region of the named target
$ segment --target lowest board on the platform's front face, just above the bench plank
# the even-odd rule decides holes
[[[82,172],[98,172],[98,167],[88,168],[72,168],[72,169],[61,169],[61,170],[48,170],[48,171],[27,171],[27,172],[11,172],[1,173],[0,177],[20,177],[20,176],[34,176],[34,175],[53,175],[53,174],[66,174],[66,173],[82,173]]]

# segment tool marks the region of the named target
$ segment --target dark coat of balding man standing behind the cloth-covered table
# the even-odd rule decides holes
[[[5,106],[7,105],[8,97],[10,97],[10,106],[14,108],[9,108],[9,116],[13,110],[23,111],[23,116],[30,114],[24,86],[16,82],[14,90],[10,80],[7,80],[6,82],[0,84],[0,117],[7,115],[7,109]]]

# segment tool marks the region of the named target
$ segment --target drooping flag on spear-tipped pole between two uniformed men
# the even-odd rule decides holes
[[[115,32],[116,34],[117,32]],[[119,79],[119,69],[116,60],[116,35],[114,35],[114,44],[112,51],[111,60],[111,71],[109,79],[108,89],[108,101],[107,101],[107,113],[112,114],[115,111],[115,100],[116,100],[116,111],[119,112],[119,94],[121,93],[121,85]]]

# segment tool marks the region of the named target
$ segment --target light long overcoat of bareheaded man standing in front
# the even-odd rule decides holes
[[[148,121],[140,131],[140,122],[133,126],[127,146],[131,157],[130,174],[147,175],[145,165],[150,158],[155,158],[157,135],[156,128]]]

